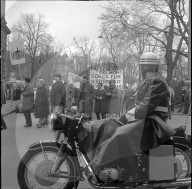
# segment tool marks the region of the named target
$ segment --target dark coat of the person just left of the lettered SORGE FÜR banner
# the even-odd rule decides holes
[[[82,83],[79,88],[78,102],[81,100],[82,96],[84,100],[84,113],[92,112],[93,97],[94,97],[93,85],[91,85],[90,83]]]

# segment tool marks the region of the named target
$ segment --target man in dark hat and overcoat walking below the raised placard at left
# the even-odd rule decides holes
[[[34,90],[33,85],[30,83],[30,78],[25,78],[25,88],[22,91],[22,112],[25,116],[26,124],[24,127],[31,127],[31,109],[34,104]]]

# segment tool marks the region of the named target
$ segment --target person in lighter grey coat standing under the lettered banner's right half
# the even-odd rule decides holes
[[[119,99],[118,99],[118,89],[115,86],[115,80],[111,80],[109,82],[109,88],[106,93],[107,97],[110,99],[109,103],[109,117],[111,118],[117,118],[117,116],[120,113],[121,106],[118,105]]]

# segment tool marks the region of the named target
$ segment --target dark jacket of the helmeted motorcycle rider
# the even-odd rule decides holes
[[[137,89],[135,118],[145,119],[156,114],[163,120],[168,117],[169,88],[158,73],[143,80]]]

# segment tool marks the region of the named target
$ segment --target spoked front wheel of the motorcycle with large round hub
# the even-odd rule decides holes
[[[48,177],[58,149],[44,147],[27,151],[17,169],[17,180],[21,189],[72,189],[78,181],[68,178]],[[74,175],[75,168],[70,156],[62,159],[58,173]]]

